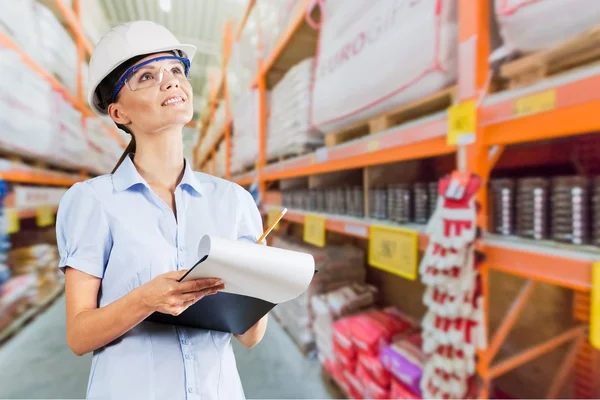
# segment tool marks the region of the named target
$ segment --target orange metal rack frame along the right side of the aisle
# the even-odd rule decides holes
[[[441,113],[338,146],[321,148],[309,155],[267,165],[265,155],[267,75],[287,46],[292,43],[295,33],[305,23],[304,18],[309,12],[310,4],[309,0],[300,1],[300,7],[290,18],[273,52],[265,60],[259,61],[259,73],[254,81],[260,94],[259,159],[253,171],[231,178],[241,185],[248,185],[257,180],[266,203],[264,206],[266,211],[280,205],[278,203],[280,199],[265,197],[265,188],[273,181],[358,169],[395,161],[456,154],[459,169],[475,173],[483,179],[483,188],[478,193],[478,201],[482,206],[479,225],[486,229],[489,206],[487,183],[504,146],[600,131],[600,114],[597,112],[600,108],[600,67],[598,66],[548,78],[525,89],[488,94],[489,16],[492,3],[491,0],[477,2],[459,0],[458,101],[472,100],[477,104],[476,131],[472,135],[470,144],[459,147],[446,144],[448,115]],[[244,21],[253,6],[254,1],[250,1]],[[236,36],[238,38],[241,29],[243,25],[238,30]],[[226,77],[226,74],[222,76]],[[551,96],[555,99],[551,109],[527,112],[519,107],[519,102],[547,92],[551,92]],[[213,144],[211,149],[215,146],[216,144]],[[227,160],[229,162],[229,158]],[[206,164],[206,158],[200,161],[199,166]],[[305,216],[304,212],[289,210],[284,218],[303,224]],[[375,223],[366,219],[322,216],[325,217],[326,230],[363,239],[368,239],[370,226]],[[380,224],[379,221],[377,223]],[[414,226],[408,228],[419,232],[419,248],[424,249],[427,236],[422,228],[421,231]],[[571,350],[558,366],[556,377],[548,388],[548,396],[558,395],[568,373],[574,368],[575,394],[579,397],[597,397],[597,388],[589,383],[589,379],[596,374],[598,354],[587,338],[589,335],[587,323],[590,320],[591,271],[594,263],[600,261],[600,253],[572,246],[514,240],[490,234],[485,235],[482,250],[486,255],[481,274],[488,326],[489,270],[520,276],[526,278],[526,281],[498,330],[489,335],[489,346],[478,354],[477,371],[482,382],[479,397],[490,396],[492,381],[495,378],[567,343],[571,343]],[[508,359],[493,362],[530,299],[536,282],[550,283],[574,290],[576,293],[574,315],[581,324]]]

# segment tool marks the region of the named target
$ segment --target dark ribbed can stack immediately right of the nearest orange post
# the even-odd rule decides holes
[[[505,236],[512,235],[515,232],[515,181],[496,179],[492,181],[491,186],[494,232]]]

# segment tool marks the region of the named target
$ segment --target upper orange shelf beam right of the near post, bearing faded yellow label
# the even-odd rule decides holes
[[[541,105],[532,97],[536,95],[545,96],[540,101],[547,103]],[[532,104],[540,112],[519,115],[519,102]],[[595,132],[600,130],[599,107],[600,67],[549,78],[484,101],[480,112],[483,140],[486,145],[517,144]]]

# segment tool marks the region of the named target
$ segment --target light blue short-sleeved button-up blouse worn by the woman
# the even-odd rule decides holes
[[[177,220],[126,157],[71,187],[56,219],[59,267],[102,278],[99,307],[164,272],[198,261],[205,235],[256,241],[262,220],[242,187],[185,163]],[[89,399],[243,399],[231,334],[142,322],[95,351]]]

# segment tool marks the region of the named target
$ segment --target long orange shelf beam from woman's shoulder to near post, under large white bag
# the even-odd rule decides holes
[[[267,181],[320,174],[370,165],[449,154],[455,146],[446,144],[445,113],[400,125],[315,153],[267,165]]]

